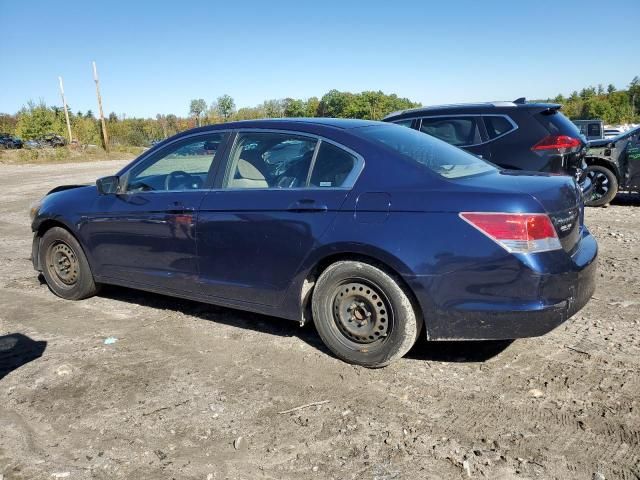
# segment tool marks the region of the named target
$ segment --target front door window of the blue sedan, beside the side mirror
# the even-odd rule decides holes
[[[224,134],[169,145],[126,176],[127,192],[187,191],[204,188]]]

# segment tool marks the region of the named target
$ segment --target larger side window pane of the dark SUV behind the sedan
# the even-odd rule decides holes
[[[484,129],[479,115],[422,117],[417,128],[480,158],[491,160],[491,150],[483,142]]]

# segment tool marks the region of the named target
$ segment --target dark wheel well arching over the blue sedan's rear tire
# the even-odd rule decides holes
[[[400,285],[400,288],[402,288],[402,290],[404,290],[404,292],[407,294],[407,297],[409,297],[409,301],[413,306],[413,310],[416,313],[416,317],[419,320],[422,320],[424,325],[422,308],[420,307],[418,298],[413,292],[413,289],[411,289],[411,287],[407,284],[407,282],[405,282],[404,278],[402,278],[402,276],[394,268],[390,267],[387,263],[381,262],[375,257],[370,257],[368,255],[362,255],[358,253],[337,253],[334,255],[329,255],[328,257],[325,257],[322,260],[320,260],[318,263],[316,263],[316,265],[311,270],[309,270],[309,274],[307,275],[307,277],[305,278],[302,284],[302,292],[301,292],[303,324],[306,323],[307,320],[310,320],[312,318],[311,317],[311,299],[313,297],[313,290],[314,290],[316,281],[318,280],[320,275],[322,275],[322,272],[324,272],[330,265],[333,265],[334,263],[341,262],[341,261],[368,263],[369,265],[373,265],[374,267],[379,268],[380,270],[382,270],[383,272],[391,276],[396,282],[398,282],[398,285]],[[425,325],[425,328],[426,328],[426,325]]]

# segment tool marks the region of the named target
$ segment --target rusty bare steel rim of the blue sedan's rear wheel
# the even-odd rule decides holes
[[[387,296],[363,279],[343,281],[332,295],[332,318],[343,344],[361,350],[386,340],[394,316]]]

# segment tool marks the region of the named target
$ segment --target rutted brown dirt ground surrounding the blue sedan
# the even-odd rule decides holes
[[[0,165],[0,478],[640,479],[639,197],[587,211],[598,289],[565,325],[368,370],[277,318],[51,294],[30,203],[121,165]]]

